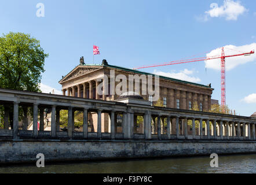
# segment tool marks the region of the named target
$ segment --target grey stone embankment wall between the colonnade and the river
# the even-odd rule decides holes
[[[210,157],[211,153],[256,153],[256,142],[1,140],[0,163],[35,162],[38,153],[43,153],[46,161],[202,155]]]

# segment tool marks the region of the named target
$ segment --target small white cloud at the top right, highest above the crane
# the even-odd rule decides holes
[[[204,12],[210,17],[225,17],[226,20],[237,20],[237,17],[247,12],[248,10],[241,5],[240,1],[224,0],[222,6],[217,3],[211,3],[210,10]],[[207,18],[204,18],[207,20]]]

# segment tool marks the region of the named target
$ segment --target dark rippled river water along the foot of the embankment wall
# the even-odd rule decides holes
[[[256,173],[256,154],[219,156],[218,168],[209,157],[98,161],[0,166],[0,173]]]

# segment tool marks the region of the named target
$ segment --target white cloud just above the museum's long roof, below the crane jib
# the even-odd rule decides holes
[[[198,83],[198,82],[201,81],[199,79],[199,77],[189,76],[189,75],[193,75],[194,71],[188,70],[188,69],[184,69],[184,70],[182,70],[180,72],[177,72],[177,73],[175,73],[175,71],[162,72],[162,71],[158,71],[158,70],[155,69],[153,71],[153,73],[155,75],[171,77],[173,79],[179,79],[179,80],[184,80],[184,81],[188,81],[188,82]]]

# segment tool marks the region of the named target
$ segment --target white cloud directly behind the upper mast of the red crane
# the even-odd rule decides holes
[[[256,50],[256,43],[252,43],[250,45],[244,45],[244,46],[233,46],[233,45],[224,46],[225,56],[240,54],[239,51],[242,51],[243,53],[248,53],[252,50]],[[221,48],[211,51],[210,53],[206,54],[206,56],[207,57],[221,56]],[[229,71],[238,65],[246,64],[247,62],[253,62],[253,61],[256,61],[256,54],[251,54],[250,56],[228,57],[226,58],[226,70]],[[207,60],[204,62],[206,63],[206,68],[217,69],[217,70],[221,69],[220,58]]]

